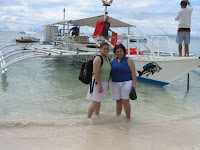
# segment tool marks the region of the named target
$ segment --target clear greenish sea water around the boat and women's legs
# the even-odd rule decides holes
[[[0,32],[0,47],[13,43],[16,32]],[[200,39],[192,39],[192,53],[200,55]],[[177,45],[172,42],[173,49]],[[87,85],[78,80],[80,63],[68,58],[33,58],[8,67],[0,74],[0,128],[24,126],[83,126],[90,101]],[[131,101],[132,119],[155,123],[200,117],[200,68],[164,87],[138,82],[136,101]],[[108,92],[102,103],[102,120],[97,124],[119,123],[115,102]],[[123,116],[124,113],[123,113]]]

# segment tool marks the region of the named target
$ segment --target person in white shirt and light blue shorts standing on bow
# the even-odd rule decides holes
[[[177,43],[179,56],[182,56],[182,43],[185,45],[185,56],[189,54],[190,27],[193,7],[188,0],[181,1],[181,10],[177,12],[175,20],[178,21]],[[187,7],[189,5],[189,7]]]

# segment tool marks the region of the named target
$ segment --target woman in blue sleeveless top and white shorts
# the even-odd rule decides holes
[[[121,115],[122,106],[126,117],[131,117],[131,105],[129,103],[129,94],[131,89],[136,89],[137,78],[135,73],[135,65],[131,58],[126,57],[126,48],[122,44],[118,44],[114,48],[117,57],[111,60],[112,69],[112,99],[116,101],[116,114]]]

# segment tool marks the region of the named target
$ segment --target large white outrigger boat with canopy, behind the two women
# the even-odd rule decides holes
[[[178,57],[176,53],[172,52],[170,40],[167,36],[143,36],[131,35],[130,28],[135,27],[131,24],[122,22],[115,18],[109,17],[111,28],[126,27],[128,29],[127,35],[118,35],[113,32],[111,40],[107,40],[101,36],[105,17],[107,15],[107,6],[111,3],[103,1],[105,6],[105,15],[95,16],[79,20],[61,21],[45,26],[44,42],[51,43],[38,44],[27,47],[26,49],[15,49],[3,53],[6,47],[0,49],[0,64],[1,72],[6,73],[7,68],[16,62],[35,58],[35,57],[70,57],[72,59],[85,62],[92,59],[99,54],[99,46],[101,42],[107,42],[110,46],[110,56],[114,57],[112,49],[118,43],[127,45],[127,55],[134,60],[136,67],[136,75],[139,81],[164,86],[167,85],[196,67],[200,66],[200,58],[194,55],[189,57]],[[59,30],[59,27],[62,29]],[[79,28],[88,26],[95,28],[93,35],[70,36],[70,26]],[[63,32],[59,32],[63,31]],[[81,30],[80,30],[81,31]],[[136,47],[132,47],[132,39],[136,39]],[[140,48],[141,39],[145,39],[146,49]],[[161,40],[165,40],[168,44],[168,52],[161,51]],[[155,41],[158,42],[158,49],[155,49]],[[127,43],[127,44],[125,44]],[[12,45],[13,46],[13,45]],[[133,50],[134,52],[131,52]],[[11,56],[17,56],[23,53],[23,56],[9,59]],[[10,61],[8,61],[10,60]]]

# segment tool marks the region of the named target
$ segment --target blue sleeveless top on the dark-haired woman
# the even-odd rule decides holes
[[[117,57],[112,62],[112,81],[113,82],[124,82],[132,80],[131,71],[128,66],[128,57],[122,58],[118,63]]]

